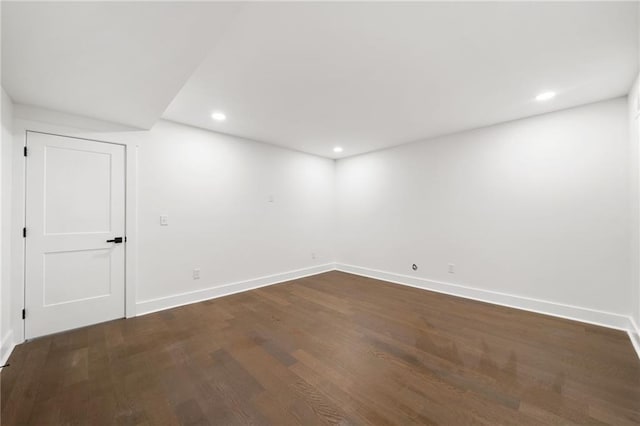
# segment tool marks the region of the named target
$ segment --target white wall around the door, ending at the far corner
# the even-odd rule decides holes
[[[136,152],[137,224],[127,226],[137,225],[138,313],[333,267],[333,160],[169,121],[132,132],[23,105],[15,115],[15,150],[32,129]],[[13,169],[13,217],[22,218],[24,158],[14,155]],[[12,285],[22,295],[20,235],[12,248]],[[21,323],[15,328],[22,336]]]

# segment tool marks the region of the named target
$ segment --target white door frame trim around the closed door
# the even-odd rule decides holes
[[[38,117],[39,118],[39,117]],[[48,121],[48,120],[47,120]],[[58,120],[56,120],[58,121]],[[65,120],[62,120],[65,121]],[[124,146],[125,150],[125,234],[127,244],[125,246],[125,318],[136,316],[136,294],[138,281],[138,150],[139,133],[131,132],[130,128],[122,128],[110,123],[103,123],[87,119],[86,122],[77,121],[70,125],[52,125],[43,121],[33,121],[16,117],[13,132],[13,169],[12,170],[12,236],[11,252],[11,282],[12,295],[12,327],[14,341],[25,341],[25,324],[22,320],[22,309],[25,308],[26,289],[26,238],[22,236],[22,228],[26,224],[26,167],[27,158],[23,150],[27,144],[29,133],[41,133],[53,136],[62,136],[72,139],[84,139],[94,142],[109,143]],[[81,130],[89,128],[91,130]],[[138,131],[140,129],[137,129]],[[28,312],[27,312],[28,315]],[[19,323],[18,321],[21,321]]]

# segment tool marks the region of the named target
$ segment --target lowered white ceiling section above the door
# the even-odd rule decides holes
[[[239,5],[2,2],[2,86],[18,103],[150,128]]]

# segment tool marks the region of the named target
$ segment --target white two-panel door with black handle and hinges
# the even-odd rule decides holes
[[[124,317],[124,159],[121,145],[27,133],[27,338]]]

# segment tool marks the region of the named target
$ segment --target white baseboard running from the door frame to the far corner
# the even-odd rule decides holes
[[[162,311],[164,309],[175,308],[191,303],[202,302],[203,300],[229,296],[231,294],[240,293],[247,290],[253,290],[268,285],[278,284],[285,281],[291,281],[298,278],[321,274],[323,272],[333,271],[334,269],[335,264],[327,263],[324,265],[312,266],[310,268],[296,269],[294,271],[283,272],[280,274],[268,275],[246,281],[224,284],[218,287],[211,287],[202,290],[191,291],[188,293],[180,293],[172,296],[145,300],[136,303],[136,316],[150,314],[152,312]]]

